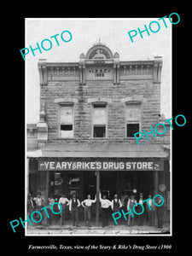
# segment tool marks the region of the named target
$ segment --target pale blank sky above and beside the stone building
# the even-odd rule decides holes
[[[108,46],[112,53],[119,53],[120,61],[148,61],[154,60],[154,55],[160,55],[163,59],[161,73],[161,95],[160,113],[164,113],[166,118],[172,117],[172,24],[166,19],[166,25],[159,20],[159,32],[143,32],[143,38],[137,35],[133,38],[134,42],[128,36],[131,30],[144,30],[144,25],[160,17],[146,19],[29,19],[26,18],[26,36],[24,47],[37,48],[44,39],[52,42],[52,49],[42,50],[42,54],[36,50],[35,56],[30,52],[26,55],[26,123],[36,124],[39,120],[39,73],[38,59],[46,59],[48,62],[78,62],[79,55],[84,53],[98,43]],[[153,24],[152,30],[157,30]],[[72,33],[72,40],[65,43],[61,40],[61,32],[69,31]],[[59,34],[59,46],[54,38]],[[67,34],[65,34],[67,36]],[[64,37],[65,38],[65,37]],[[49,43],[44,42],[44,47],[49,48]],[[20,55],[22,58],[22,56]]]

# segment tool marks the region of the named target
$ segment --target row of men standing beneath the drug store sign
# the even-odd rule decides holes
[[[142,204],[144,209],[147,213],[147,219],[148,219],[148,225],[154,225],[154,212],[157,214],[158,217],[158,227],[162,228],[163,222],[162,222],[162,211],[161,207],[155,207],[154,203],[152,201],[152,196],[148,195],[148,198],[151,198],[148,201],[148,204],[151,207],[151,210],[146,206],[146,202],[143,202],[143,193],[140,193],[138,203]],[[79,207],[84,207],[84,225],[90,226],[90,220],[91,220],[91,206],[92,204],[96,203],[96,196],[95,199],[92,200],[90,195],[87,196],[87,199],[84,201],[79,201],[77,196],[73,194],[72,198],[70,200],[67,199],[67,196],[65,194],[62,194],[61,197],[53,197],[52,195],[49,196],[49,208],[47,209],[49,213],[48,218],[48,224],[52,224],[52,221],[55,221],[55,224],[61,224],[64,225],[66,221],[67,216],[67,207],[69,209],[69,212],[72,216],[72,224],[73,226],[79,226]],[[108,220],[110,217],[110,212],[120,212],[121,208],[124,209],[125,212],[127,212],[130,208],[133,212],[133,206],[137,203],[137,200],[135,198],[135,195],[132,194],[128,197],[128,201],[121,201],[119,199],[119,196],[115,194],[113,196],[113,200],[109,201],[107,199],[106,195],[101,195],[101,191],[99,193],[99,201],[101,204],[101,213],[102,213],[102,227],[108,226]],[[51,211],[51,206],[58,202],[61,204],[62,211],[60,214],[53,214]],[[42,207],[45,206],[45,199],[41,195],[40,192],[38,192],[37,197],[32,197],[32,195],[29,195],[28,201],[27,201],[27,212],[32,213],[33,211],[39,211]],[[130,207],[130,208],[129,208]],[[157,208],[157,209],[156,209]],[[161,209],[160,209],[161,208]],[[137,209],[137,212],[142,211],[142,208]],[[53,211],[59,212],[60,206],[58,204],[53,205]],[[38,217],[37,217],[38,218]],[[127,224],[128,225],[134,225],[135,224],[135,218],[132,218],[131,214],[128,214],[127,216]],[[138,218],[138,224],[143,225],[143,214],[137,215]]]

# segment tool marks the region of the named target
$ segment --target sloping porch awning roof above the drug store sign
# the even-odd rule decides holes
[[[168,158],[169,152],[157,143],[62,143],[28,151],[34,158]]]

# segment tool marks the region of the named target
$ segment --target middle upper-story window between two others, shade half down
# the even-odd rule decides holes
[[[94,103],[92,115],[93,137],[106,137],[107,108],[106,103]]]

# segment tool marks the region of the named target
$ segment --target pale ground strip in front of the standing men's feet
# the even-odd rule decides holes
[[[102,226],[91,226],[85,227],[80,225],[79,227],[73,227],[72,225],[66,224],[60,225],[37,225],[29,226],[26,229],[27,235],[43,235],[43,236],[126,236],[126,235],[150,235],[150,234],[170,234],[170,228],[163,226],[163,229],[154,228],[153,226],[128,226],[125,224],[114,225],[110,224],[108,227],[102,228]]]

